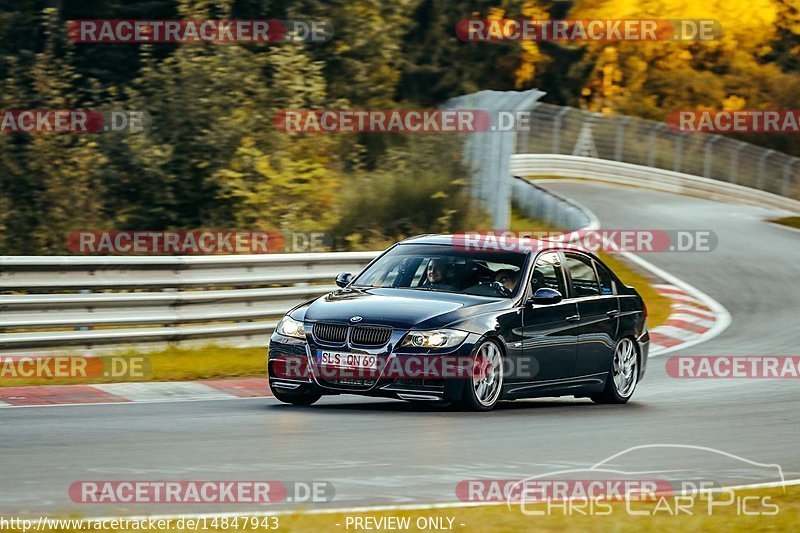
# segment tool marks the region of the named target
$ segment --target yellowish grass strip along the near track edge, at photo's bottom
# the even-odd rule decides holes
[[[690,501],[676,500],[674,496],[666,496],[654,502],[613,502],[610,507],[603,507],[600,511],[595,506],[595,512],[589,513],[585,502],[575,502],[574,506],[552,505],[549,512],[544,504],[527,507],[528,511],[538,510],[542,515],[532,516],[524,514],[519,505],[511,508],[505,505],[411,510],[411,511],[367,511],[357,513],[330,513],[330,514],[290,514],[272,519],[277,521],[280,531],[292,533],[316,531],[421,531],[426,524],[442,524],[441,529],[451,531],[481,531],[481,532],[516,532],[516,531],[595,531],[595,532],[639,532],[639,531],[703,531],[703,532],[743,532],[754,531],[794,531],[800,523],[800,486],[794,485],[782,488],[762,488],[737,490],[734,493],[716,493],[713,501],[717,505],[711,507],[709,512],[709,497],[706,494],[697,496]],[[722,505],[722,502],[728,502]],[[676,505],[682,503],[682,511],[676,512]],[[583,505],[582,512],[579,510]],[[745,515],[745,509],[755,515]],[[259,513],[263,513],[260,510]],[[603,512],[604,514],[598,514]],[[639,514],[633,514],[633,512]],[[771,513],[771,514],[767,514]],[[392,517],[408,519],[409,527],[386,527],[387,522],[380,522],[381,518]],[[75,519],[76,517],[72,517]],[[370,519],[372,527],[354,527],[355,519]],[[435,522],[439,519],[440,522]],[[233,527],[233,519],[226,522],[227,527],[218,519],[217,525],[212,525],[212,518],[208,518],[204,531],[266,531],[262,527]],[[419,521],[419,522],[418,522]],[[35,522],[35,521],[34,521]],[[241,519],[243,522],[243,518]],[[254,521],[255,522],[255,521]],[[259,520],[261,522],[261,520]],[[394,522],[395,524],[397,522]],[[348,527],[349,524],[349,527]],[[364,524],[364,522],[362,522]],[[380,524],[383,524],[381,527]],[[35,525],[35,523],[34,523]],[[106,525],[106,524],[104,524]],[[239,524],[241,526],[241,523]],[[436,528],[425,528],[431,530]],[[62,533],[76,533],[78,531],[92,530],[89,526],[79,529],[72,527],[44,527],[37,531],[57,531]],[[141,528],[131,526],[128,528],[103,528],[107,532],[139,531]],[[178,529],[173,520],[167,527],[159,531],[184,531]],[[22,527],[7,528],[2,531],[14,533],[27,533]],[[30,531],[30,530],[28,530]]]

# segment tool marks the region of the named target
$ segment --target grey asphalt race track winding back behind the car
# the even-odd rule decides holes
[[[590,208],[604,228],[717,234],[713,252],[645,255],[716,299],[733,319],[717,338],[670,355],[798,355],[800,232],[763,222],[775,213],[599,184],[548,187]],[[448,502],[456,501],[455,486],[464,479],[589,467],[648,444],[710,447],[780,465],[787,480],[800,478],[800,382],[674,379],[664,371],[667,357],[650,360],[646,379],[624,406],[562,398],[454,413],[340,396],[312,408],[270,398],[4,409],[0,514],[256,510],[78,506],[67,497],[76,480],[106,479],[317,480],[334,484],[328,505],[336,507]],[[700,449],[641,449],[612,465],[725,485],[780,480],[774,468]]]

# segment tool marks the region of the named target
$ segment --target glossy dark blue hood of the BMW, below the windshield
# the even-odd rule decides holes
[[[399,329],[443,327],[507,301],[464,294],[411,289],[342,289],[314,300],[305,320],[391,326]]]

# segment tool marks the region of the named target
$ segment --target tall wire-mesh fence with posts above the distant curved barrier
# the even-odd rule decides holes
[[[744,185],[800,200],[800,158],[727,135],[672,131],[667,124],[536,103],[515,153],[586,156],[672,174]],[[667,171],[666,174],[660,171]]]

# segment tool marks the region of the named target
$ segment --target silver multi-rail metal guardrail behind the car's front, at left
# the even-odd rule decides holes
[[[224,339],[266,345],[291,307],[378,252],[0,257],[0,354]]]

